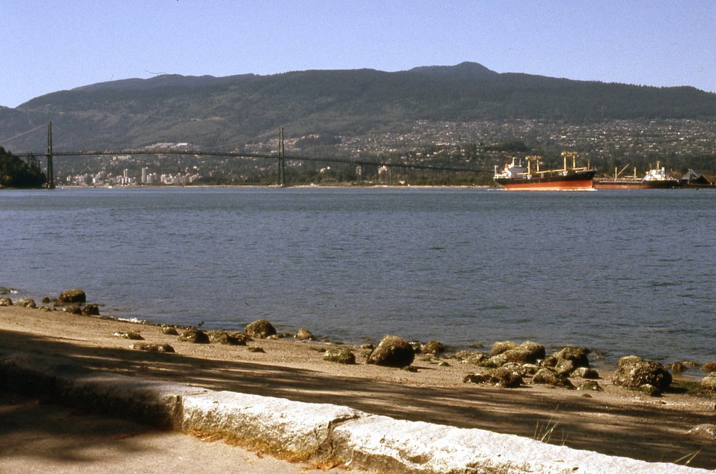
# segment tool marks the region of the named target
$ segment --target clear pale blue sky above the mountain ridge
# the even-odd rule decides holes
[[[0,106],[157,74],[474,61],[716,92],[716,0],[0,0]]]

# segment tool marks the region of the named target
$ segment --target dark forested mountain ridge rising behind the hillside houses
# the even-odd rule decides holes
[[[160,75],[91,84],[0,108],[0,139],[47,122],[56,149],[118,149],[158,142],[233,147],[275,137],[280,127],[357,137],[410,132],[416,121],[565,124],[618,120],[716,121],[716,94],[497,73],[476,63],[293,71],[258,76]],[[0,145],[44,149],[42,132]]]

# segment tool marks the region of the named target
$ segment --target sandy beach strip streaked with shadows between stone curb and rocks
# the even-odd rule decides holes
[[[347,405],[393,418],[544,438],[548,443],[653,462],[692,457],[694,467],[716,468],[714,442],[687,434],[696,425],[716,423],[713,396],[672,390],[650,397],[613,385],[612,372],[603,369],[598,380],[601,392],[532,385],[527,377],[523,387],[505,389],[463,382],[480,367],[448,356],[417,355],[415,371],[407,371],[366,365],[367,350],[352,347],[357,364],[342,365],[323,360],[324,351],[333,347],[329,342],[286,337],[252,340],[245,346],[192,344],[160,329],[62,310],[0,307],[0,355],[57,355],[94,370]],[[132,331],[144,338],[139,342],[169,344],[175,353],[132,350],[130,345],[137,341],[115,335]],[[263,352],[252,352],[251,347]],[[580,381],[574,379],[574,385]]]

